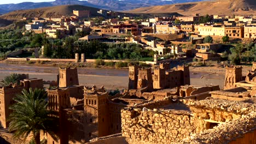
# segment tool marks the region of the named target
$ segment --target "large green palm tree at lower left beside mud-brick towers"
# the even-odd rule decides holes
[[[40,132],[47,132],[56,139],[54,130],[57,128],[57,119],[52,117],[53,111],[47,109],[47,95],[44,89],[26,89],[14,98],[16,102],[10,109],[13,112],[9,117],[9,131],[14,137],[27,137],[32,134],[34,141],[40,144]]]

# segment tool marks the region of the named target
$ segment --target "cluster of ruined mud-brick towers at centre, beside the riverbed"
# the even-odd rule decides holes
[[[140,68],[138,65],[129,67],[129,89],[147,87],[147,91],[152,92],[184,85],[190,85],[189,67],[185,65],[170,69],[170,63],[160,63],[153,74],[151,68]]]

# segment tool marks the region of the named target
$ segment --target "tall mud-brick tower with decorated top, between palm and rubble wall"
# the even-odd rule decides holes
[[[84,89],[85,141],[109,135],[108,92]]]

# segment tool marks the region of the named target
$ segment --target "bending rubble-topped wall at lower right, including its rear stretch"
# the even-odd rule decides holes
[[[220,106],[226,111],[237,112],[237,114],[243,116],[234,119],[234,121],[221,123],[213,129],[208,129],[195,134],[193,137],[189,137],[189,139],[181,141],[181,143],[256,143],[255,104],[241,103],[237,101],[229,102],[225,100],[214,101],[219,103],[212,105],[212,107]],[[221,102],[223,104],[219,105]]]

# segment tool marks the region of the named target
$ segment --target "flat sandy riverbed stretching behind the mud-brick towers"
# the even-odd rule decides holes
[[[243,75],[245,75],[249,69],[251,69],[251,67],[243,66]],[[0,80],[11,73],[20,73],[29,74],[30,78],[37,77],[45,81],[53,81],[57,79],[57,71],[58,67],[49,65],[0,63]],[[78,77],[80,85],[96,85],[97,87],[103,85],[107,89],[127,88],[129,80],[128,69],[78,68]],[[223,88],[225,68],[190,67],[190,78],[190,83],[193,86],[211,84],[219,85],[220,88]]]

